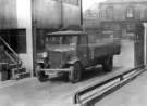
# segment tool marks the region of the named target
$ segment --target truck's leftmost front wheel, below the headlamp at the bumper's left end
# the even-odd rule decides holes
[[[40,71],[41,67],[38,65],[36,66],[36,76],[40,82],[44,82],[47,80],[47,76],[45,75],[45,71]]]

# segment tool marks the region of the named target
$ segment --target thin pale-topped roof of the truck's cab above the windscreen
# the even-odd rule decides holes
[[[86,35],[84,31],[74,31],[74,30],[65,30],[65,31],[56,31],[51,34],[47,34],[47,36],[74,36],[74,35]]]

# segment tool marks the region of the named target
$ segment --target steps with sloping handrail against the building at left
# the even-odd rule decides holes
[[[29,72],[22,67],[22,61],[17,53],[2,37],[0,37],[0,71],[11,72],[10,79],[22,79],[29,76]]]

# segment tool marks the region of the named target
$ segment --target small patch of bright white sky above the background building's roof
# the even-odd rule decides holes
[[[83,0],[83,10],[85,11],[86,9],[88,9],[90,5],[93,5],[94,3],[99,3],[106,0]]]

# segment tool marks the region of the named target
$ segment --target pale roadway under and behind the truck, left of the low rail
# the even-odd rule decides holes
[[[69,106],[77,90],[134,67],[133,42],[123,41],[122,43],[122,53],[114,57],[112,72],[103,72],[101,68],[98,68],[86,72],[82,81],[76,84],[65,82],[62,77],[44,83],[40,83],[36,78],[28,79],[14,85],[1,88],[0,106]],[[64,102],[68,105],[61,105]]]

